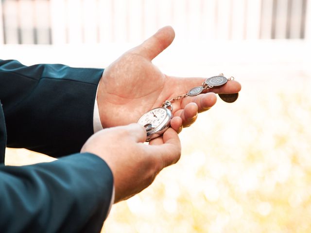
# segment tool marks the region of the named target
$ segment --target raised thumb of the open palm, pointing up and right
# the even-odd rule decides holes
[[[151,61],[173,42],[174,37],[175,32],[173,28],[166,26],[159,29],[154,35],[133,50]]]

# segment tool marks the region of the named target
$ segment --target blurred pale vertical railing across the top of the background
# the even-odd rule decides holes
[[[0,0],[0,44],[310,39],[310,0]],[[2,20],[3,19],[3,20]]]

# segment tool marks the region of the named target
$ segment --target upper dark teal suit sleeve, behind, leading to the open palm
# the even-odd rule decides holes
[[[93,134],[96,90],[103,69],[59,64],[26,67],[0,60],[0,100],[7,147],[53,157],[79,152]]]

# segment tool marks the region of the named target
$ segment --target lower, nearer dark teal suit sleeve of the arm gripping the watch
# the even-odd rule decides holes
[[[0,166],[0,232],[100,232],[113,179],[90,153],[51,163]]]

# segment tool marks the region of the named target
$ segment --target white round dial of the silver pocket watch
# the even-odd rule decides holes
[[[150,110],[143,116],[141,116],[140,119],[138,120],[138,124],[143,126],[151,124],[152,128],[156,128],[163,122],[166,115],[167,113],[164,108],[155,108],[153,110]]]

